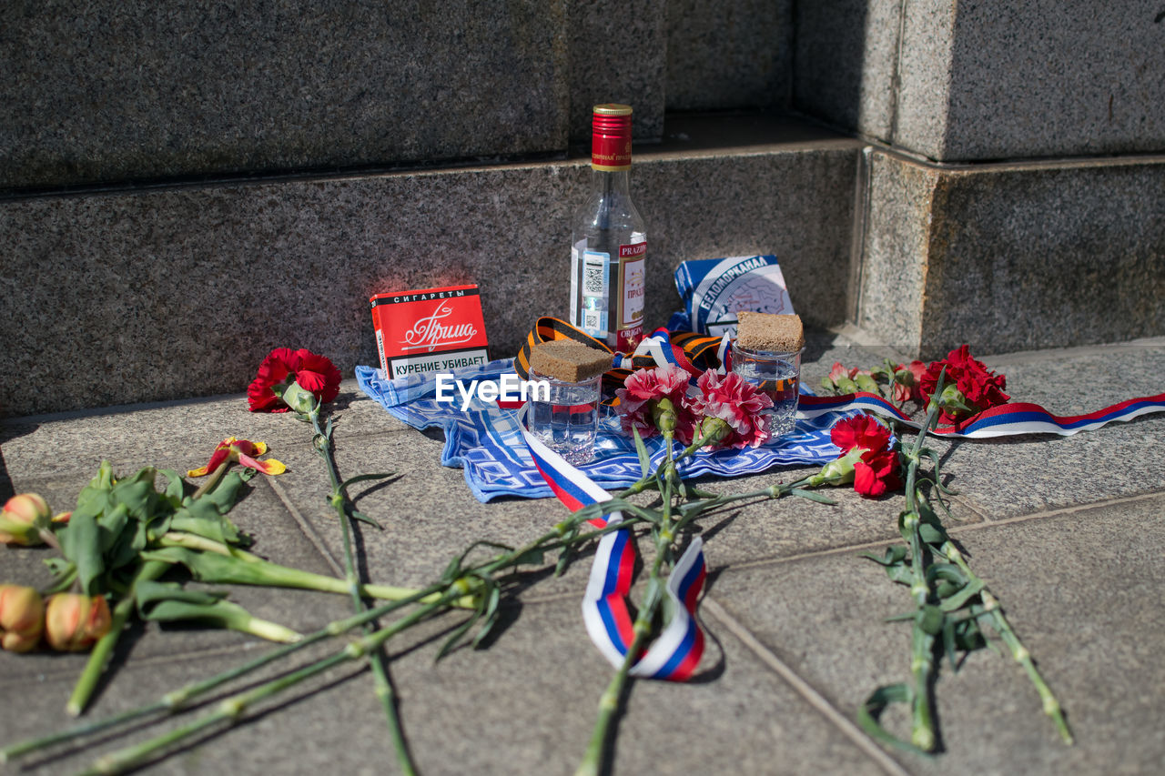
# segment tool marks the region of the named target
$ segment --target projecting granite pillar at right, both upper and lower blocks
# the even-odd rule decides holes
[[[873,147],[855,320],[905,352],[1165,331],[1165,8],[799,3],[793,105]]]

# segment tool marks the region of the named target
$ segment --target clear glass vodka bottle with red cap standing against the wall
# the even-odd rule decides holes
[[[571,223],[571,323],[628,353],[643,338],[648,237],[631,203],[631,108],[595,105],[591,193]]]

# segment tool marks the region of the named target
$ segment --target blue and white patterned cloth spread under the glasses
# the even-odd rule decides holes
[[[503,359],[452,374],[468,385],[473,380],[496,381],[502,374],[513,372],[513,359]],[[516,410],[500,409],[494,403],[474,398],[463,411],[461,397],[456,388],[451,391],[446,389],[446,395],[452,393],[454,401],[438,402],[433,375],[386,380],[380,369],[358,366],[356,381],[393,417],[415,429],[443,429],[445,449],[440,463],[464,468],[465,481],[479,501],[487,502],[499,496],[542,499],[553,495],[534,467],[522,439]],[[838,449],[829,442],[829,429],[838,418],[853,414],[856,411],[828,412],[811,421],[798,419],[792,435],[756,449],[698,452],[680,461],[679,472],[685,478],[705,474],[736,477],[777,466],[824,464],[838,457]],[[664,456],[663,438],[652,437],[644,443],[652,463],[658,465]],[[635,443],[621,433],[619,417],[614,412],[600,418],[595,457],[579,470],[607,491],[626,488],[640,479]]]

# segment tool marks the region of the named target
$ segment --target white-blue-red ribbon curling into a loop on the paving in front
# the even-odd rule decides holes
[[[682,352],[669,344],[666,330],[640,343],[636,354],[650,354],[661,365],[686,360]],[[558,500],[572,512],[587,505],[609,501],[609,493],[525,429],[525,412],[527,408],[523,407],[518,414],[522,435],[530,449],[534,465]],[[595,528],[606,528],[622,521],[622,513],[616,510],[588,522]],[[627,607],[634,569],[635,541],[630,529],[605,534],[599,539],[582,597],[582,621],[591,641],[615,668],[622,665],[635,641],[634,622]],[[684,682],[696,671],[704,655],[704,632],[696,621],[696,606],[704,590],[705,576],[704,542],[696,537],[671,570],[664,586],[665,594],[671,600],[671,606],[665,607],[665,611],[671,613],[671,619],[631,666],[631,676]]]

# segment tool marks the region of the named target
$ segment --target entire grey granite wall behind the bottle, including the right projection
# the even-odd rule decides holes
[[[351,373],[370,294],[444,282],[508,354],[565,311],[599,101],[652,322],[678,262],[776,253],[812,324],[926,358],[1162,334],[1163,50],[1134,0],[15,3],[0,414]]]

